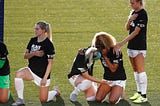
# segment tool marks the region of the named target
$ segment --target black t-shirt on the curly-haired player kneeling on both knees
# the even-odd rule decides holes
[[[110,49],[110,51],[106,55],[112,64],[118,64],[118,68],[115,72],[111,72],[104,58],[101,57],[100,60],[104,68],[103,79],[113,80],[113,81],[114,80],[126,80],[126,73],[123,67],[122,53],[121,55],[117,56],[116,54],[113,53],[113,49]]]

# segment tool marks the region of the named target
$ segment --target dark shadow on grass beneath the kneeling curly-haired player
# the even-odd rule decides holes
[[[108,102],[97,103],[97,102],[88,102],[89,106],[131,106],[128,101],[120,100],[118,104],[109,104]]]

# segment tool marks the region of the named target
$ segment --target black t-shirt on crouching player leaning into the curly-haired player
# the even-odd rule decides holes
[[[68,78],[72,77],[73,75],[82,74],[86,71],[88,71],[88,74],[92,76],[94,61],[91,65],[88,65],[88,63],[89,61],[85,59],[85,55],[78,53],[76,58],[74,59],[71,72],[68,74]]]

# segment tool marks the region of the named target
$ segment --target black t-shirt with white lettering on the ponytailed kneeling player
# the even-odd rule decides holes
[[[37,50],[43,50],[44,55],[42,57],[34,56],[30,58],[28,67],[33,73],[43,78],[47,69],[48,59],[53,59],[55,50],[53,43],[48,38],[46,38],[42,42],[37,41],[37,37],[31,38],[28,43],[27,49],[30,53]],[[50,75],[48,76],[48,79],[49,78]]]

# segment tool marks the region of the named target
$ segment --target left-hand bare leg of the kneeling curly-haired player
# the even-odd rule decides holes
[[[102,102],[106,98],[106,95],[111,91],[111,87],[107,84],[100,84],[96,93],[96,101]]]

